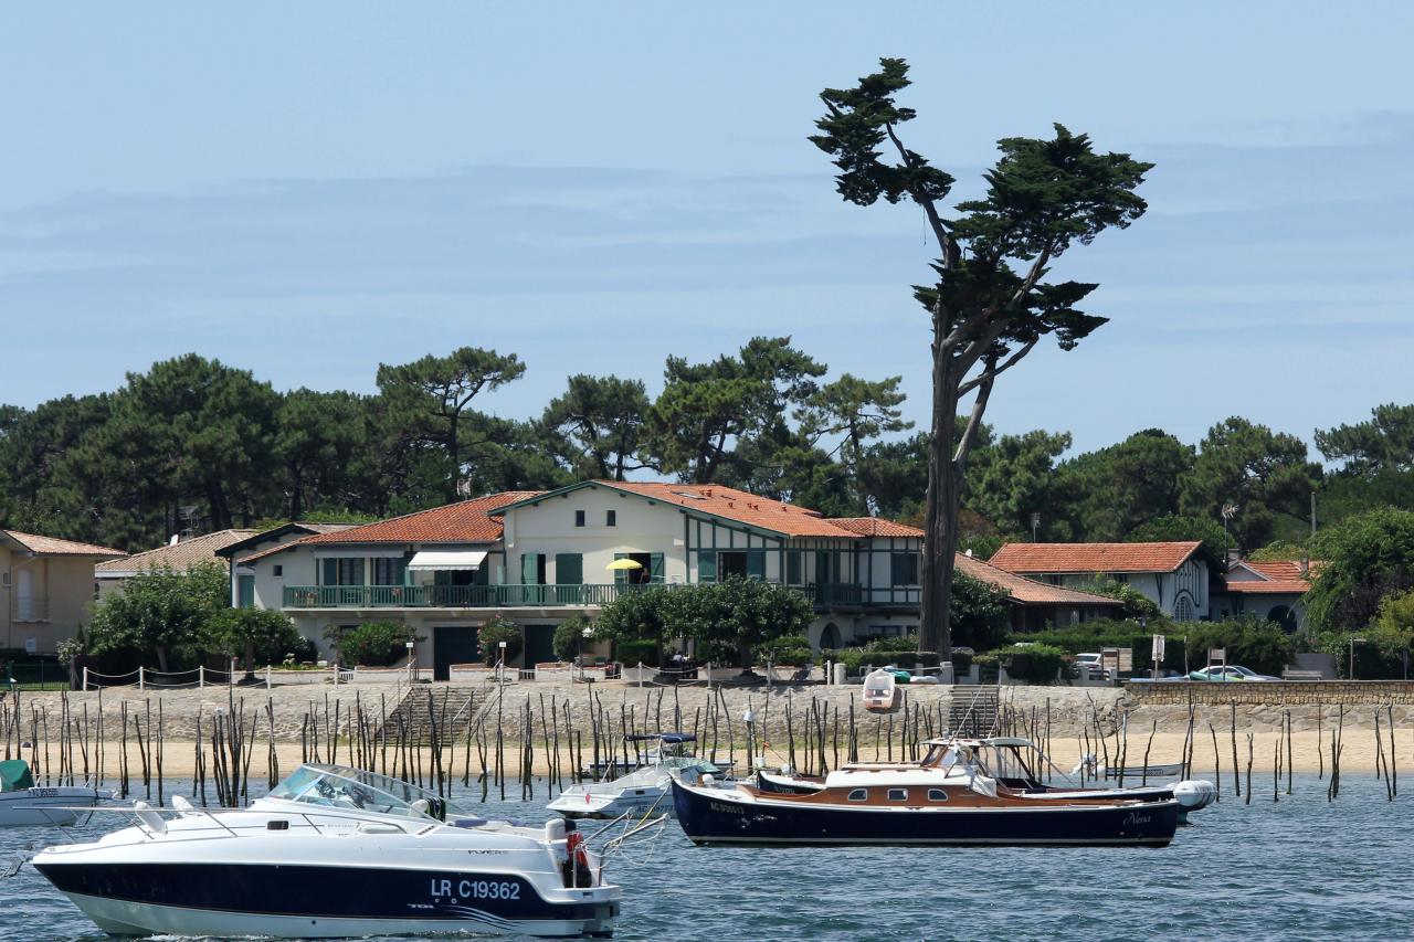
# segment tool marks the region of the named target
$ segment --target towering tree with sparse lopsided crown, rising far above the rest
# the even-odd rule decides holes
[[[913,289],[933,327],[919,644],[946,656],[963,472],[993,383],[1042,337],[1053,334],[1062,349],[1070,349],[1106,322],[1076,307],[1094,284],[1044,279],[1073,242],[1089,243],[1144,214],[1145,204],[1134,191],[1152,164],[1128,154],[1097,154],[1089,137],[1056,124],[1051,140],[998,141],[1001,157],[986,174],[986,195],[949,209],[942,204],[953,177],[929,165],[899,136],[904,122],[915,116],[913,109],[894,103],[908,85],[908,64],[885,58],[855,88],[826,89],[820,93],[826,115],[810,140],[839,167],[836,182],[844,199],[861,207],[880,198],[911,199],[937,242],[936,280]],[[957,423],[959,403],[967,396],[973,396],[969,419]]]

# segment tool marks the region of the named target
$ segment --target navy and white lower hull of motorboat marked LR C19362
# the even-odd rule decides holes
[[[305,864],[109,864],[35,860],[106,932],[317,939],[436,932],[605,938],[604,888],[536,892],[510,873]]]

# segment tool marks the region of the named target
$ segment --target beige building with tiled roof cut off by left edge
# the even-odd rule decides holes
[[[54,653],[90,617],[93,567],[123,550],[0,530],[0,644]]]

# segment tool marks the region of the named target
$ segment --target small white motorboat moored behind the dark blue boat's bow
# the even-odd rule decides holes
[[[646,757],[641,755],[641,767],[628,775],[611,782],[571,785],[546,808],[566,818],[618,818],[626,812],[648,812],[655,806],[663,813],[672,813],[669,781],[674,771],[690,769],[697,779],[708,775],[713,781],[731,778],[717,765],[691,755],[689,744],[696,741],[691,733],[650,733],[624,738],[639,750],[648,743],[656,743],[658,748]]]

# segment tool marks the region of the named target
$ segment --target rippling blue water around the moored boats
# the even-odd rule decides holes
[[[1193,816],[1164,850],[693,847],[676,823],[611,863],[624,885],[617,939],[1342,939],[1408,938],[1414,894],[1411,796],[1384,798],[1373,775],[1342,795],[1298,778],[1271,801]],[[1284,785],[1284,782],[1282,782]],[[488,805],[544,820],[542,802]],[[112,827],[68,829],[75,839]],[[0,856],[40,830],[0,832]],[[0,942],[98,941],[78,909],[31,867],[0,881]]]

